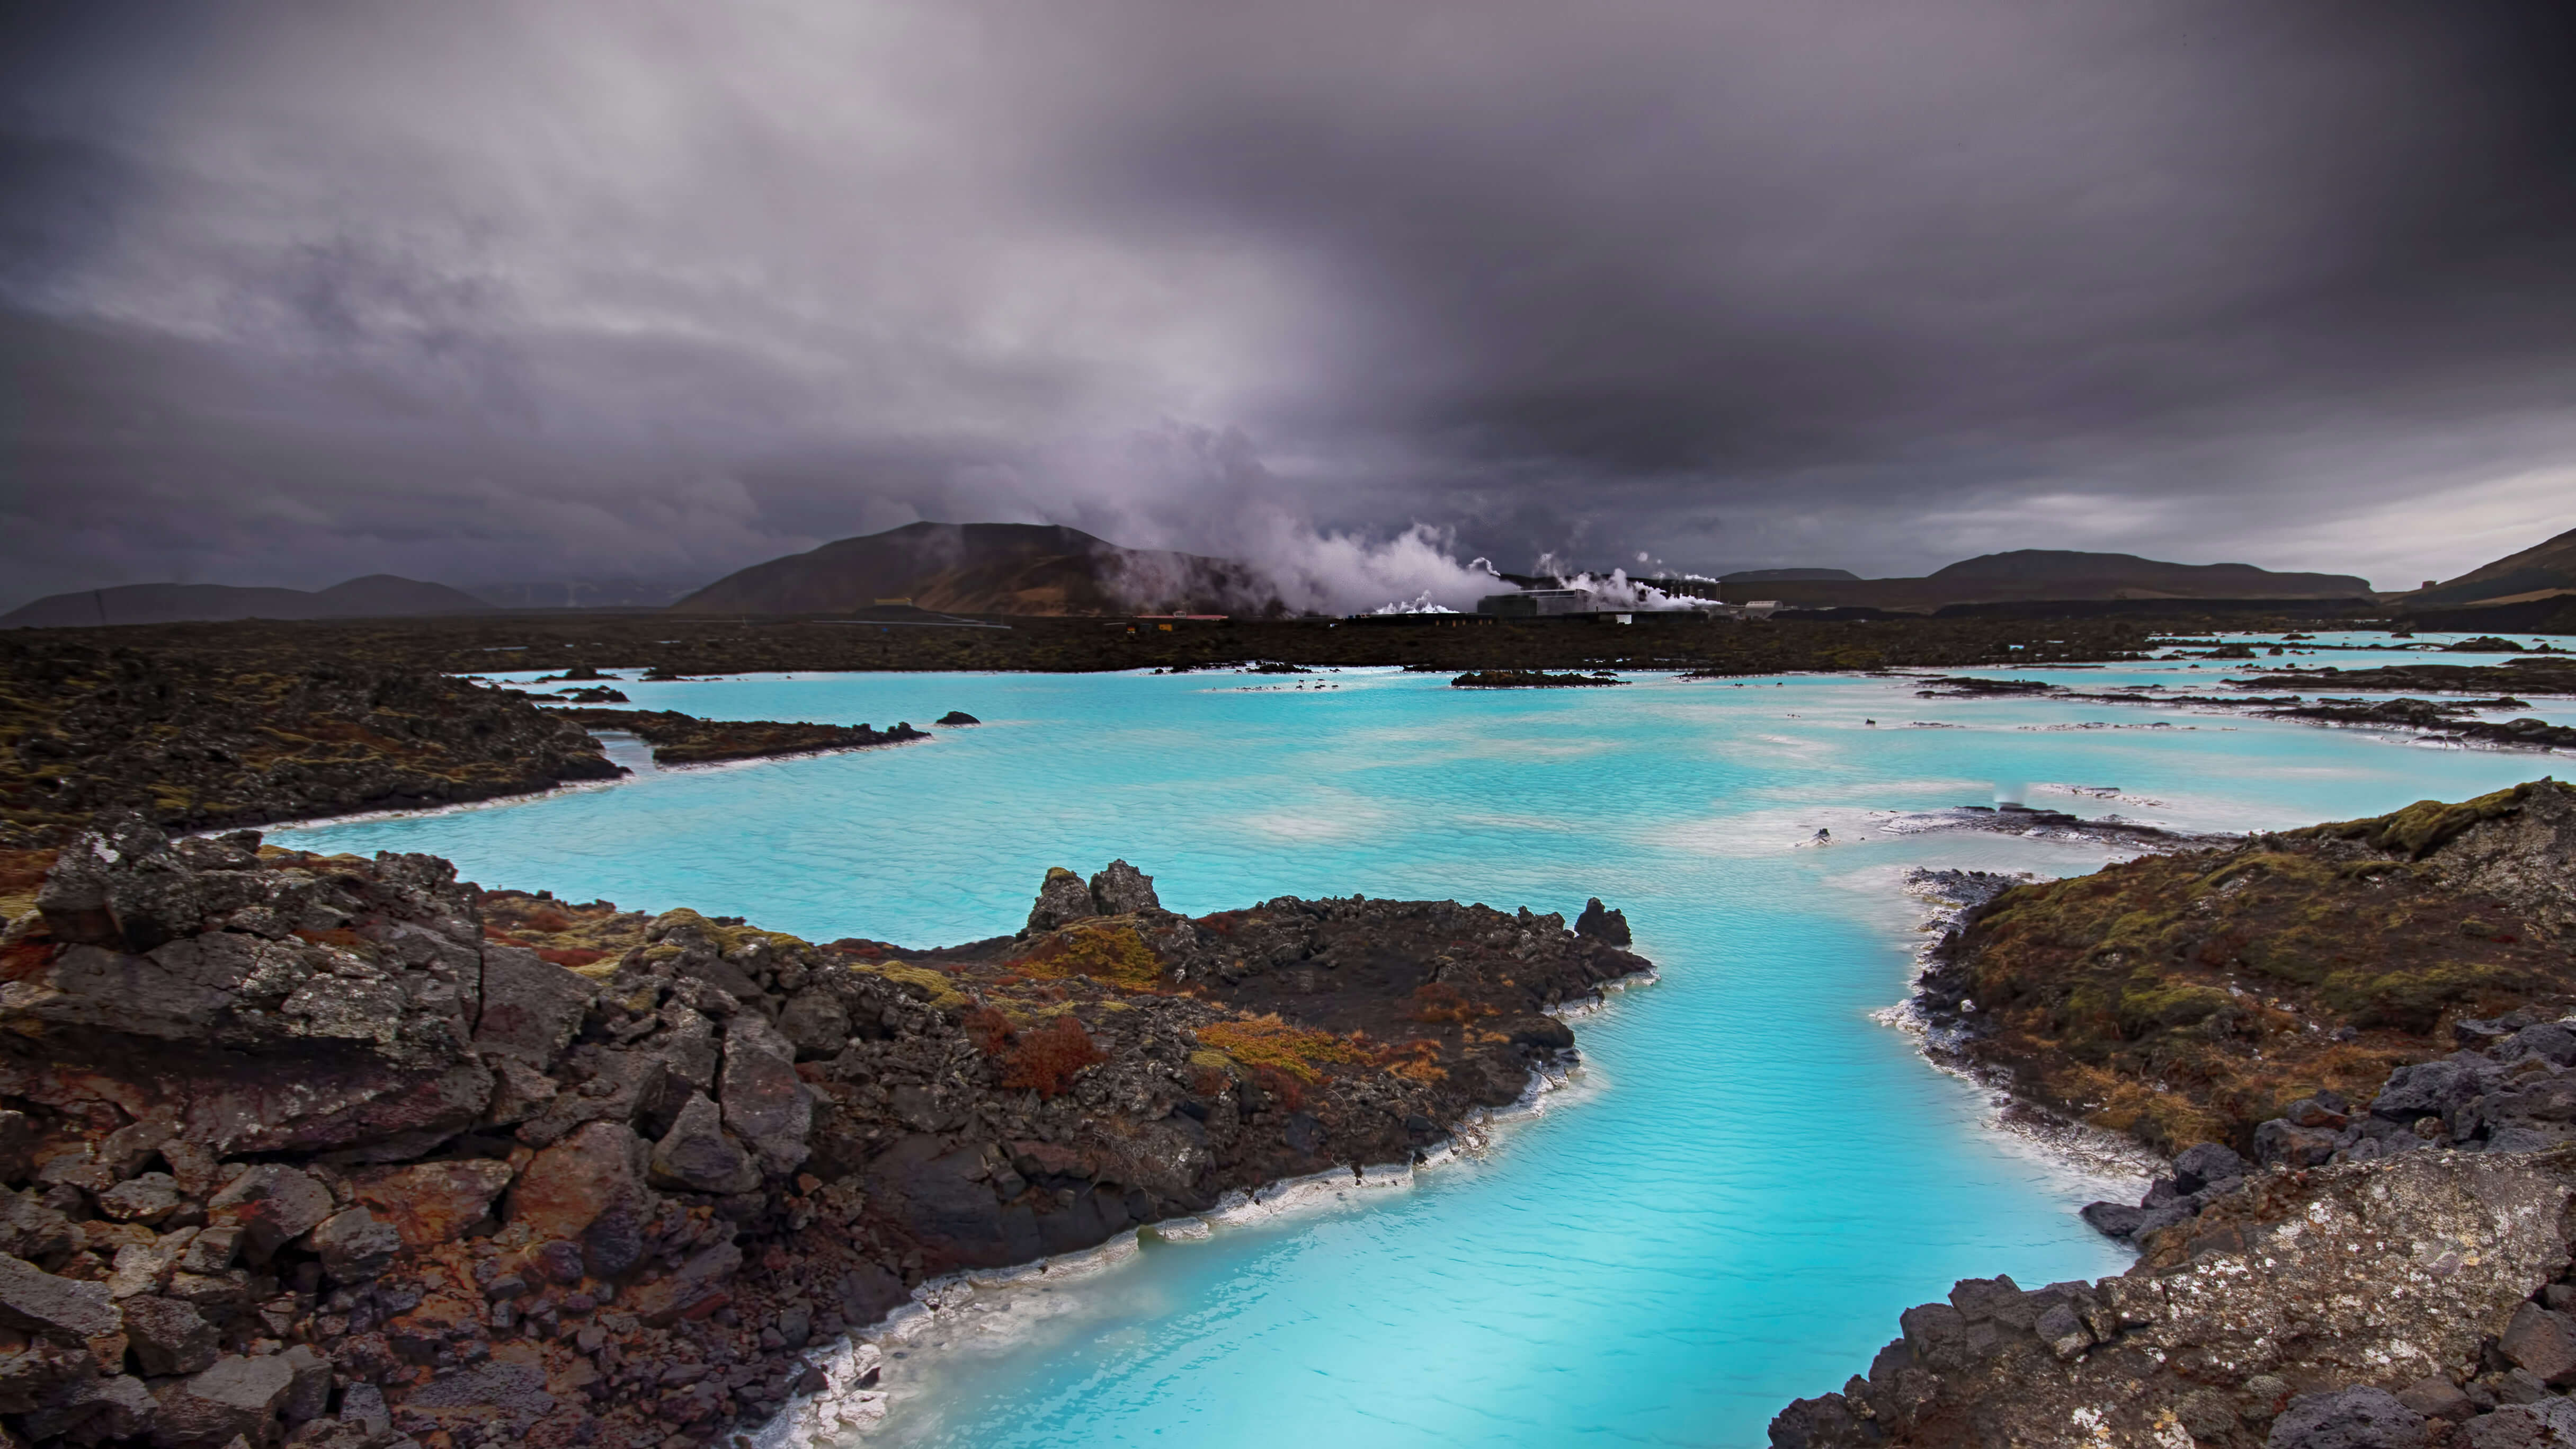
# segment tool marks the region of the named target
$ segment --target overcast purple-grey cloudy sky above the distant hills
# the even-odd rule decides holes
[[[2483,0],[13,5],[0,608],[914,518],[2406,588],[2576,526],[2571,62]]]

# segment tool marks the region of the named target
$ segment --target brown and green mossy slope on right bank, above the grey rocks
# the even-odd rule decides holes
[[[1963,1065],[2159,1152],[2254,1150],[2311,1091],[2370,1098],[2447,1021],[2576,1006],[2576,789],[2141,856],[2002,887],[1917,1006]]]

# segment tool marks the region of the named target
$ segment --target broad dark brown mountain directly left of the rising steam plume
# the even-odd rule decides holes
[[[1234,559],[1123,549],[1056,523],[904,523],[788,554],[672,603],[683,614],[1257,614],[1275,590]]]

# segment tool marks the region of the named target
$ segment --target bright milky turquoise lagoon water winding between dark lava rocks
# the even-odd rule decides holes
[[[278,841],[907,944],[1018,928],[1046,866],[1110,856],[1193,913],[1358,890],[1571,915],[1600,895],[1664,980],[1579,1021],[1587,1073],[1564,1106],[1412,1191],[1149,1245],[1036,1330],[891,1364],[896,1413],[871,1439],[1754,1446],[1783,1403],[1862,1372],[1896,1312],[1953,1279],[2125,1266],[2071,1212],[2099,1183],[1994,1132],[1981,1093],[1870,1018],[1909,972],[1906,866],[2071,874],[2105,851],[1888,835],[1873,812],[2004,786],[2246,830],[2563,766],[2177,709],[1917,699],[1883,678],[1468,694],[1342,670],[1303,678],[1337,688],[1255,688],[1280,683],[1301,681],[623,683],[639,706],[711,717],[989,724]],[[1837,846],[1801,846],[1816,828]]]

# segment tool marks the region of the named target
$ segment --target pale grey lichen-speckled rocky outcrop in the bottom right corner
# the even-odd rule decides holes
[[[2259,1171],[2123,1276],[1968,1279],[1777,1449],[2491,1449],[2576,1423],[2576,1150]]]

